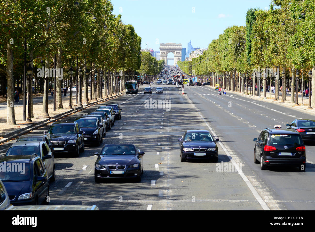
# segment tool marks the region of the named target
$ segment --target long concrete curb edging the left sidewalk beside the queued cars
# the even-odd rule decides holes
[[[64,113],[61,113],[61,114],[58,114],[58,115],[55,115],[54,117],[52,117],[51,119],[44,119],[43,121],[40,121],[40,122],[37,122],[35,125],[31,125],[31,126],[27,126],[25,128],[21,128],[19,130],[16,130],[12,133],[9,133],[9,134],[5,134],[3,135],[3,139],[0,140],[0,144],[3,144],[3,143],[6,143],[8,142],[9,140],[12,140],[16,137],[19,137],[21,136],[22,134],[26,134],[32,130],[35,130],[37,128],[40,128],[40,127],[43,127],[43,126],[46,126],[47,124],[51,123],[51,122],[55,122],[61,118],[64,118],[66,116],[69,116],[73,113],[76,113],[78,111],[81,111],[81,110],[84,110],[86,108],[89,108],[90,106],[93,106],[93,105],[96,105],[96,104],[100,104],[100,103],[103,103],[103,102],[106,102],[110,99],[113,99],[113,98],[116,98],[116,97],[120,97],[122,96],[124,93],[120,93],[118,94],[117,96],[115,97],[112,97],[112,98],[105,98],[105,99],[102,99],[100,101],[96,101],[96,102],[93,102],[92,104],[89,104],[89,105],[86,105],[86,106],[79,106],[79,107],[76,107],[76,108],[73,108],[73,110],[68,110]]]

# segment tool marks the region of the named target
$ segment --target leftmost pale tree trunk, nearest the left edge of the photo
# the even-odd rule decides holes
[[[13,76],[13,51],[7,43],[7,124],[16,124],[14,113],[14,76]]]

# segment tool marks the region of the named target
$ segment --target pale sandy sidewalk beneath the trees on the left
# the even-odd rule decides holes
[[[118,96],[121,96],[123,92],[120,94],[113,96],[111,98],[115,98]],[[84,95],[83,95],[84,96]],[[90,96],[89,96],[90,97]],[[35,99],[42,99],[41,101]],[[33,95],[33,114],[34,118],[32,118],[33,125],[26,124],[25,121],[23,121],[23,98],[20,99],[19,104],[15,104],[14,106],[14,112],[15,112],[15,122],[16,125],[7,125],[7,109],[0,110],[0,144],[4,143],[8,140],[11,140],[15,137],[20,136],[21,134],[25,134],[27,131],[34,130],[35,128],[41,127],[43,125],[46,125],[50,122],[56,121],[60,118],[63,118],[67,116],[68,114],[72,114],[74,112],[77,112],[80,109],[87,108],[91,105],[98,104],[103,101],[107,101],[111,98],[104,98],[100,101],[93,100],[92,102],[89,101],[89,105],[83,105],[78,106],[75,104],[75,94],[72,94],[72,107],[73,109],[67,109],[69,106],[69,94],[66,94],[66,97],[64,95],[62,96],[62,104],[64,109],[57,109],[54,111],[54,98],[51,97],[51,94],[48,96],[48,114],[51,117],[49,118],[43,118],[43,94],[34,94]],[[4,99],[4,100],[3,100]],[[5,98],[0,99],[0,103],[4,103]],[[37,103],[35,103],[37,102]],[[26,118],[27,118],[27,105],[26,105]]]

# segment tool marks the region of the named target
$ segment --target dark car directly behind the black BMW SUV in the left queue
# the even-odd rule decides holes
[[[83,131],[84,144],[100,146],[103,143],[103,125],[95,117],[77,117],[74,122]]]

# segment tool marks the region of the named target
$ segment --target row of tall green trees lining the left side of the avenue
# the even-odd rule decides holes
[[[102,95],[101,70],[105,86],[109,86],[105,91],[107,96],[114,91],[115,73],[121,75],[124,86],[125,73],[134,74],[141,64],[141,38],[132,25],[122,23],[121,15],[113,14],[113,5],[108,0],[2,1],[0,34],[0,75],[6,76],[8,87],[7,124],[15,124],[12,103],[16,81],[24,73],[25,61],[26,68],[29,64],[33,68],[33,75],[44,79],[43,114],[46,116],[49,81],[54,78],[51,72],[38,75],[38,68],[57,68],[59,75],[54,83],[56,107],[63,108],[61,84],[64,78],[69,78],[71,67],[74,69],[73,78],[84,81],[83,102],[88,103]],[[78,77],[77,59],[78,69],[83,71],[81,77]],[[88,76],[85,73],[89,73],[92,79],[92,99],[88,97]],[[27,97],[30,98],[33,117],[32,77],[27,77]]]

